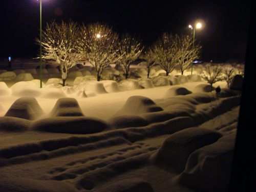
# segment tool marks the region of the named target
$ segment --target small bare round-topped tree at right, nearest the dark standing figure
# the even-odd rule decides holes
[[[210,84],[212,89],[212,84],[223,80],[223,67],[207,64],[203,69],[202,78]]]

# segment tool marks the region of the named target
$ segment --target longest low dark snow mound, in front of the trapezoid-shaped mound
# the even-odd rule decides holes
[[[109,128],[104,121],[93,117],[50,117],[36,121],[32,129],[55,133],[90,134]]]

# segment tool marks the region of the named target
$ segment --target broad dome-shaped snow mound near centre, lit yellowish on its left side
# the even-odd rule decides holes
[[[132,96],[127,99],[123,107],[114,115],[139,115],[142,113],[162,111],[163,109],[151,99],[142,96]]]

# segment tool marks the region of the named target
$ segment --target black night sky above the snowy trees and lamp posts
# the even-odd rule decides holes
[[[196,32],[203,45],[202,59],[243,59],[251,1],[98,1],[42,0],[42,26],[53,19],[78,23],[103,22],[118,34],[129,32],[150,45],[163,32],[188,34],[188,24],[203,19]],[[1,0],[0,58],[36,57],[39,2]]]

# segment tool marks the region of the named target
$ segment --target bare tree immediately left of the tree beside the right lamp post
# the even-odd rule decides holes
[[[177,47],[174,45],[174,36],[164,33],[153,47],[156,62],[166,71],[166,76],[177,65]]]

